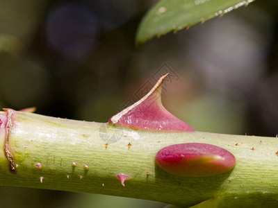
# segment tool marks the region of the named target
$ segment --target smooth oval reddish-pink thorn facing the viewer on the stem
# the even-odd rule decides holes
[[[167,173],[183,177],[204,177],[230,171],[236,158],[228,150],[202,143],[174,144],[156,154],[156,164]]]

